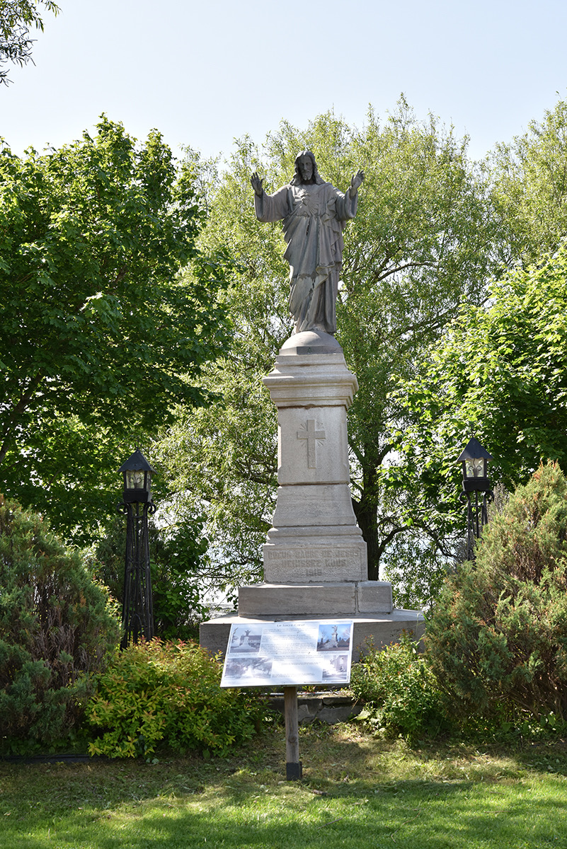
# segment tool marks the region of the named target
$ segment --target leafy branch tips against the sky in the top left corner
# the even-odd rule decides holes
[[[7,62],[27,65],[31,59],[30,27],[43,31],[43,20],[38,6],[58,14],[53,0],[0,0],[0,82],[8,85],[8,71],[1,70]]]

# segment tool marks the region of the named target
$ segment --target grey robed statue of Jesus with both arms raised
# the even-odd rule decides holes
[[[282,221],[289,262],[289,312],[294,332],[337,329],[336,301],[343,260],[345,222],[356,215],[357,171],[346,194],[325,183],[311,150],[295,159],[295,176],[275,194],[266,194],[257,171],[250,177],[258,221]]]

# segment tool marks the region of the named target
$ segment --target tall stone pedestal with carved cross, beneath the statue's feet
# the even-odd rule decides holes
[[[278,408],[278,501],[264,545],[264,582],[239,588],[239,617],[340,616],[355,620],[355,641],[372,636],[376,645],[404,629],[421,637],[422,614],[393,610],[390,583],[367,579],[346,432],[358,384],[339,343],[321,331],[292,336],[264,383]],[[205,622],[201,644],[224,650],[230,621]]]

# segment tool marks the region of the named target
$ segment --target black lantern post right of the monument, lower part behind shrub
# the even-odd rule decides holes
[[[494,500],[491,481],[488,477],[488,464],[491,455],[480,442],[471,437],[458,462],[463,464],[463,492],[461,498],[467,501],[467,559],[474,560],[474,540],[480,537],[483,527],[488,524],[488,503]],[[481,500],[479,498],[481,493]],[[474,503],[473,503],[474,495]]]

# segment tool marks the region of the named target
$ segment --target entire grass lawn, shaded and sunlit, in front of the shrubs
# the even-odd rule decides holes
[[[230,759],[0,762],[2,849],[567,847],[567,744],[409,749],[353,725],[283,729]]]

